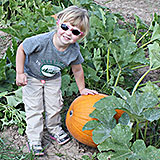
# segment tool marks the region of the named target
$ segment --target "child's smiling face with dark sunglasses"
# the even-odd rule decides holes
[[[78,27],[72,26],[69,22],[57,23],[57,37],[63,45],[75,43],[83,37]]]

